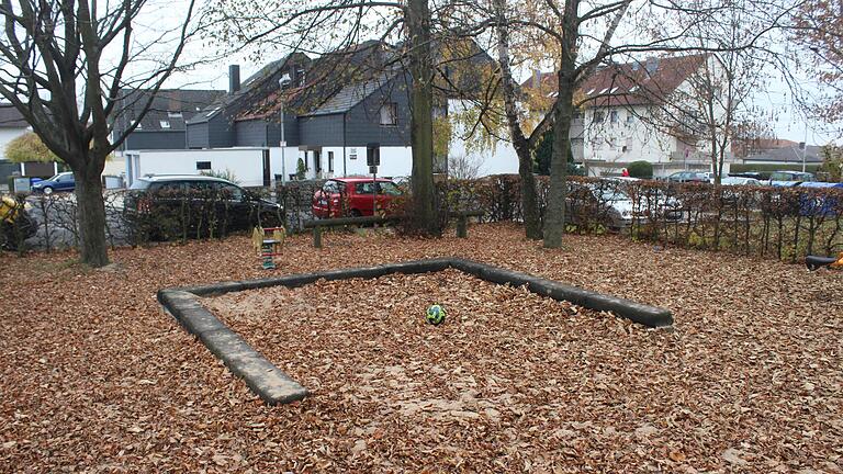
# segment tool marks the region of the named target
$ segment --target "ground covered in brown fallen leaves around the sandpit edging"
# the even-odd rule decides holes
[[[0,471],[841,471],[843,272],[566,238],[301,236],[276,273],[459,256],[666,306],[676,330],[456,271],[209,298],[314,392],[280,407],[155,301],[266,276],[247,238],[121,249],[111,271],[0,257]]]

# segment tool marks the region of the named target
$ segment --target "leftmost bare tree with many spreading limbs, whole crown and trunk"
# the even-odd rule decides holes
[[[92,267],[109,262],[101,182],[105,158],[135,129],[154,93],[177,69],[194,32],[193,2],[177,26],[147,32],[147,38],[135,32],[146,0],[0,3],[5,22],[0,38],[0,95],[74,171],[80,256]],[[134,70],[144,61],[147,70]],[[139,113],[131,125],[112,136],[110,116],[121,112],[122,88],[144,88],[153,94],[136,109]]]

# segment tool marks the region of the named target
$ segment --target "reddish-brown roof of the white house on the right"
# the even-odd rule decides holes
[[[661,103],[707,59],[708,55],[697,54],[611,64],[597,69],[577,90],[577,95],[587,101],[586,106]],[[555,72],[533,75],[521,88],[535,89],[537,83],[547,94],[557,92]]]

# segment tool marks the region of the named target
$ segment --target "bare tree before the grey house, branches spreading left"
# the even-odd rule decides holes
[[[392,57],[379,66],[389,69],[401,65],[412,77],[413,215],[419,230],[439,232],[435,215],[432,106],[436,67],[431,49],[437,24],[429,0],[217,0],[214,11],[216,22],[222,25],[216,36],[238,48],[262,46],[337,55],[338,52],[353,50],[363,40],[373,37],[380,42],[400,43]]]

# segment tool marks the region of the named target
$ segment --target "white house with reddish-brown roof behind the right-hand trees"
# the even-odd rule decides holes
[[[618,176],[640,160],[651,162],[656,177],[710,171],[708,132],[698,125],[697,105],[687,100],[694,95],[689,79],[706,61],[707,55],[649,58],[595,71],[576,94],[583,105],[571,129],[575,161],[589,176]],[[555,88],[553,74],[522,87],[535,87],[537,80],[543,90]],[[729,156],[726,170],[731,160]]]

